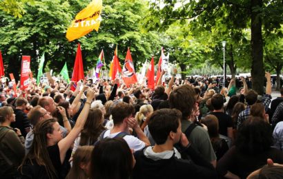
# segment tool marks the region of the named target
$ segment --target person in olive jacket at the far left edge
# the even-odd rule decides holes
[[[13,129],[10,124],[15,121],[12,107],[0,107],[0,176],[1,178],[16,178],[17,167],[25,156],[25,138],[19,129]]]

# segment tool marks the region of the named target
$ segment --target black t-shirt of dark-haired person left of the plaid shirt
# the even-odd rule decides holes
[[[224,112],[212,112],[211,114],[218,118],[219,134],[227,136],[227,127],[233,127],[231,116],[225,114]]]

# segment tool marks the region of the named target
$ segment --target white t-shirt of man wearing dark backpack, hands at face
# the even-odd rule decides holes
[[[106,137],[114,138],[119,133],[120,132],[110,134],[110,130],[107,130],[105,131],[103,138]],[[139,140],[139,138],[136,138],[135,136],[132,135],[124,136],[124,140],[126,140],[126,143],[128,143],[128,146],[130,147],[130,149],[133,149],[134,152],[144,149],[144,147],[146,147],[146,144],[142,140]]]

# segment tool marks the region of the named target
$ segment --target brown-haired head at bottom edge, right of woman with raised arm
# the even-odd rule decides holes
[[[66,179],[88,178],[90,176],[90,160],[93,146],[84,145],[77,148],[72,156],[72,167]]]

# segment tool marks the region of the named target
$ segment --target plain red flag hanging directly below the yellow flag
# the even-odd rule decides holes
[[[83,59],[81,57],[81,45],[78,44],[74,70],[72,71],[72,81],[75,81],[77,85],[77,82],[81,79],[84,79],[84,67],[83,67]],[[75,86],[72,86],[71,90],[74,91]]]

